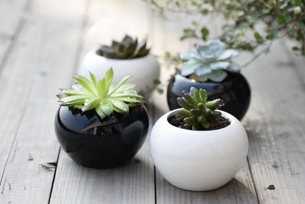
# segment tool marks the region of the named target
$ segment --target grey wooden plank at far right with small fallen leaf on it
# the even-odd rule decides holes
[[[248,159],[261,203],[304,203],[304,82],[282,44],[244,70],[252,87]],[[270,184],[275,190],[264,190]]]

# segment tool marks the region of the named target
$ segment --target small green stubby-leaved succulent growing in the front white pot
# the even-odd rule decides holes
[[[224,101],[216,99],[207,101],[205,89],[191,88],[190,93],[182,91],[182,98],[177,98],[178,104],[183,107],[178,111],[184,118],[185,127],[192,130],[210,129],[212,120],[221,116],[221,112],[215,111],[224,105]]]

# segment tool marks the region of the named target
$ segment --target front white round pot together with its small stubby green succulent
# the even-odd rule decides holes
[[[208,191],[228,183],[248,154],[248,137],[231,114],[219,111],[224,101],[207,101],[204,89],[191,88],[177,98],[180,109],[164,114],[152,128],[152,160],[172,185]]]

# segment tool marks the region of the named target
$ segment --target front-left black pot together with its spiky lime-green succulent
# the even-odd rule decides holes
[[[142,147],[149,126],[145,100],[125,84],[130,76],[112,86],[112,68],[101,80],[90,73],[72,89],[57,95],[61,106],[55,118],[55,132],[63,150],[75,162],[93,168],[119,166]]]

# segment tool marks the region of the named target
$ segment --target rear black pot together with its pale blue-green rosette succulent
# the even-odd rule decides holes
[[[210,40],[206,45],[197,45],[196,50],[180,53],[184,61],[167,88],[167,102],[170,110],[179,108],[177,97],[182,90],[191,87],[206,89],[209,100],[220,98],[226,102],[224,110],[241,120],[250,103],[250,88],[239,73],[240,66],[232,61],[239,55],[235,49],[225,49],[220,40]]]

